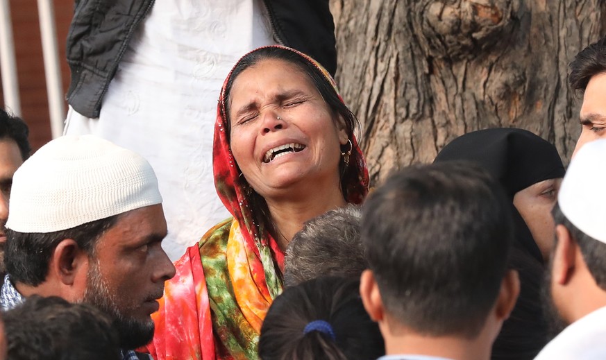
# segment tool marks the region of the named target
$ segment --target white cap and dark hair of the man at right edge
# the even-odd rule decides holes
[[[600,139],[584,144],[571,161],[553,214],[556,225],[564,225],[578,243],[596,284],[606,291],[606,197],[592,186],[604,183],[606,140]]]

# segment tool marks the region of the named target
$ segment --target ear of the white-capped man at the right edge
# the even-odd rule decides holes
[[[556,284],[566,285],[570,280],[571,271],[575,267],[578,246],[564,225],[560,224],[555,227],[555,237],[557,244],[553,252],[551,279]]]

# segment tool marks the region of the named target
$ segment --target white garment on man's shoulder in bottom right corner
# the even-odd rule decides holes
[[[566,327],[535,357],[535,360],[598,359],[606,359],[606,307]]]

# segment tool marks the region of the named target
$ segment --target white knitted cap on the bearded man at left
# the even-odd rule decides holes
[[[6,228],[56,232],[162,203],[141,155],[92,135],[42,146],[12,178]]]

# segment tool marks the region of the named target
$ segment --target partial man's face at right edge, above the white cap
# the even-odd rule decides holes
[[[583,94],[580,123],[581,135],[573,157],[584,144],[606,138],[606,73],[595,75],[587,83]]]

